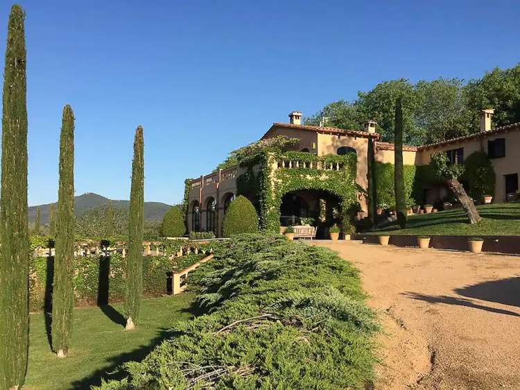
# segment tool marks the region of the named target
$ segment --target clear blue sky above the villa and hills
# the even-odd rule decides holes
[[[394,3],[392,5],[391,3]],[[397,5],[399,4],[399,5]],[[475,78],[520,61],[520,2],[21,0],[29,205],[56,201],[62,108],[76,194],[128,199],[144,126],[146,201],[176,203],[288,113],[393,78]],[[0,1],[1,42],[10,1]],[[3,69],[4,46],[1,46]]]

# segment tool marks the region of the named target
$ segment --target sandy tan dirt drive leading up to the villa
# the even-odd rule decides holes
[[[317,241],[381,313],[381,390],[520,389],[520,257]]]

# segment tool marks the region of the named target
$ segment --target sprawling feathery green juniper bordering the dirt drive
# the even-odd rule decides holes
[[[190,274],[207,314],[123,380],[98,389],[363,389],[374,381],[375,314],[358,271],[327,248],[239,235]]]

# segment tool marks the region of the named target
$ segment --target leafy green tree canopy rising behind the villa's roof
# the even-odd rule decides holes
[[[520,121],[520,64],[496,68],[482,78],[465,81],[437,78],[410,83],[406,78],[379,83],[358,92],[353,101],[325,105],[304,124],[358,130],[367,120],[377,122],[384,142],[394,142],[395,101],[403,107],[404,144],[421,145],[476,133],[478,111],[494,108],[493,126]],[[324,123],[323,123],[324,122]]]

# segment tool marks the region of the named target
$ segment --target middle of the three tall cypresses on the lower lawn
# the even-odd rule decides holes
[[[70,105],[63,108],[57,217],[52,344],[58,357],[67,357],[74,305],[74,114]]]

